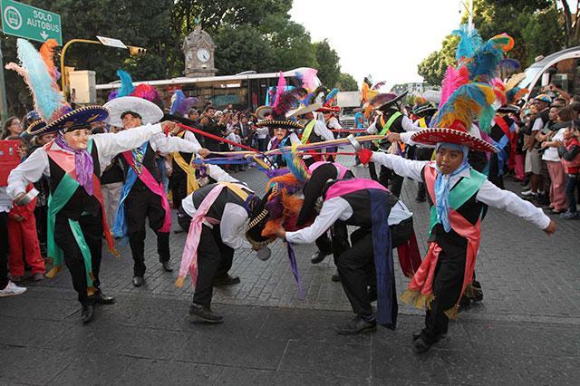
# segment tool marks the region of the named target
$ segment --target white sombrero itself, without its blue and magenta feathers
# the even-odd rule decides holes
[[[106,102],[103,107],[109,110],[109,123],[117,127],[123,126],[121,115],[128,112],[139,115],[143,124],[156,123],[163,118],[163,111],[155,103],[134,96],[115,98]]]

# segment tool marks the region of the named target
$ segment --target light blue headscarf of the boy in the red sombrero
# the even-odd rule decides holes
[[[441,147],[463,152],[461,165],[459,165],[458,169],[453,170],[453,172],[449,174],[441,173],[437,163],[435,163],[435,169],[437,170],[437,179],[435,179],[435,207],[437,209],[437,221],[439,221],[443,226],[445,232],[449,232],[449,230],[451,230],[451,226],[449,225],[449,191],[452,188],[449,181],[451,180],[451,177],[457,176],[461,171],[469,168],[469,148],[455,143],[440,142],[435,147],[435,151],[439,150]]]

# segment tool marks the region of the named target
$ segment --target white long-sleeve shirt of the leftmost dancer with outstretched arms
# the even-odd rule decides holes
[[[170,147],[172,141],[162,134],[160,124],[147,124],[131,130],[123,130],[118,133],[103,133],[92,135],[92,140],[97,147],[101,172],[111,163],[111,159],[125,150],[131,150],[142,145],[147,140],[158,143],[160,148]],[[191,144],[191,149],[198,149]],[[51,150],[62,150],[56,142],[53,142]],[[63,150],[68,152],[68,150]],[[197,151],[197,150],[196,150]],[[50,177],[48,155],[43,147],[34,152],[10,172],[8,176],[8,188],[6,192],[12,198],[26,192],[26,186],[36,182],[42,177]]]

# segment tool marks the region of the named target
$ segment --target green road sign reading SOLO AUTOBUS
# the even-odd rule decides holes
[[[60,14],[25,5],[13,0],[0,0],[2,30],[5,34],[45,42],[53,38],[63,45]]]

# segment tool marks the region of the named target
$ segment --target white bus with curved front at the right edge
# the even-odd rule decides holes
[[[553,83],[557,88],[570,95],[580,94],[580,46],[566,48],[547,55],[530,65],[526,78],[518,86],[529,92],[525,100],[541,93],[542,87]]]

